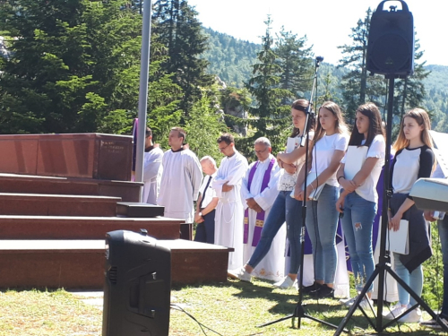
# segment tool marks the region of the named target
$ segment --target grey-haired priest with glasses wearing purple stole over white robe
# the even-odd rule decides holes
[[[267,138],[258,138],[254,142],[257,161],[246,170],[241,187],[241,196],[245,208],[244,220],[244,262],[254,253],[260,241],[264,220],[268,217],[279,189],[280,167],[271,154],[271,142]],[[285,271],[286,231],[276,235],[268,254],[256,265],[252,275],[267,280],[283,280]]]

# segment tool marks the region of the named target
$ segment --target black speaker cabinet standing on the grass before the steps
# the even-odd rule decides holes
[[[103,336],[168,336],[171,251],[145,231],[106,234]]]

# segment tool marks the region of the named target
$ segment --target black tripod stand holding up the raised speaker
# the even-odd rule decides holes
[[[345,326],[347,323],[349,323],[350,317],[353,315],[355,310],[359,307],[361,309],[362,314],[366,317],[366,320],[370,325],[375,329],[376,332],[383,332],[383,330],[389,326],[392,325],[392,323],[395,323],[397,320],[399,320],[401,317],[403,317],[406,314],[409,314],[413,309],[417,308],[418,305],[422,306],[423,309],[426,310],[428,314],[431,315],[432,318],[434,318],[436,321],[437,316],[436,314],[431,310],[429,306],[426,305],[425,301],[421,299],[421,297],[418,297],[418,295],[409,288],[408,284],[406,284],[401,278],[395,273],[395,271],[391,268],[391,256],[389,254],[389,251],[386,251],[386,233],[388,229],[388,218],[387,218],[387,211],[388,211],[388,201],[392,194],[392,191],[390,190],[390,158],[391,158],[391,137],[392,137],[392,108],[393,108],[393,90],[395,85],[395,76],[389,75],[386,76],[386,78],[389,79],[389,92],[388,92],[388,108],[387,108],[387,125],[386,125],[386,153],[385,153],[385,159],[384,159],[384,189],[383,189],[383,217],[382,217],[382,223],[381,223],[381,245],[380,245],[380,257],[379,257],[379,263],[375,266],[374,273],[370,276],[370,278],[367,280],[366,285],[364,286],[364,289],[361,290],[361,293],[358,295],[358,298],[353,303],[353,306],[350,307],[349,313],[343,318],[342,322],[340,323],[339,327],[337,328],[334,335],[340,335],[340,332],[345,331]],[[384,279],[385,279],[385,272],[389,272],[389,274],[392,275],[393,279],[397,280],[397,282],[401,285],[403,289],[406,289],[406,291],[409,293],[411,297],[413,297],[417,304],[414,306],[411,306],[407,311],[405,311],[403,314],[396,316],[392,321],[389,323],[386,323],[383,325],[383,294],[384,294]],[[370,319],[369,316],[367,316],[366,312],[363,310],[359,304],[361,303],[361,300],[363,297],[366,296],[366,293],[370,287],[370,285],[374,282],[376,276],[378,276],[378,299],[377,299],[377,311],[376,311],[376,323]],[[441,321],[438,322],[441,327],[444,329],[445,332],[448,332],[448,326],[446,326]]]

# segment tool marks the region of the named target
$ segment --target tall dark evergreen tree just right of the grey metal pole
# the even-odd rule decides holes
[[[207,48],[207,36],[202,32],[197,12],[186,0],[158,0],[154,4],[154,32],[168,47],[168,61],[163,65],[184,91],[180,108],[189,115],[196,100],[201,99],[201,88],[210,86],[213,77],[207,74],[208,62],[201,58]],[[184,119],[185,122],[185,119]]]

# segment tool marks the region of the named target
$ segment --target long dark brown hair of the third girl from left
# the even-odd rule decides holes
[[[369,147],[370,144],[374,141],[375,136],[378,134],[383,135],[385,139],[381,113],[376,105],[370,102],[360,105],[357,108],[357,113],[358,112],[368,117],[368,133],[366,143],[364,145]],[[364,134],[360,134],[357,125],[355,125],[353,127],[353,130],[351,131],[349,146],[360,146],[363,140]]]

